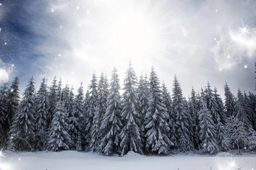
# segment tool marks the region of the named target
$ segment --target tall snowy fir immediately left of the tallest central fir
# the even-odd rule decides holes
[[[113,68],[109,94],[107,97],[107,110],[103,117],[100,130],[103,132],[103,139],[99,145],[100,150],[105,155],[119,153],[121,122],[121,96],[119,94],[119,75],[116,67]]]

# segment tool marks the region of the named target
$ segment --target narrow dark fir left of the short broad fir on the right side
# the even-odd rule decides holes
[[[199,149],[199,122],[198,122],[198,111],[196,109],[197,105],[197,96],[195,93],[195,89],[192,87],[191,91],[191,97],[189,98],[189,111],[190,115],[192,117],[192,122],[193,122],[193,136],[194,136],[194,147],[196,149]]]

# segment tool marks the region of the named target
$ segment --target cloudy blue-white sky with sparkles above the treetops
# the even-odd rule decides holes
[[[129,60],[171,94],[175,74],[186,97],[207,81],[254,92],[255,52],[255,0],[0,0],[0,80],[21,93],[32,75],[86,89],[114,66],[123,87]]]

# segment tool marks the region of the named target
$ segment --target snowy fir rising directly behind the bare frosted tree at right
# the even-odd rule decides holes
[[[237,91],[237,101],[235,105],[236,111],[236,118],[239,119],[245,125],[246,129],[248,130],[251,125],[250,115],[246,112],[244,97],[241,93],[240,89]]]

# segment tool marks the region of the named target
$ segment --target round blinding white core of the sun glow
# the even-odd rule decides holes
[[[141,13],[124,11],[113,21],[108,48],[117,54],[141,56],[155,49],[155,30],[151,20]]]

